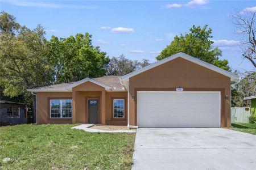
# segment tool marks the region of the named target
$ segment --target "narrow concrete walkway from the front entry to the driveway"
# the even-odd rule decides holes
[[[136,130],[101,130],[101,129],[93,129],[90,128],[94,126],[94,124],[82,124],[79,126],[72,127],[72,129],[80,129],[92,133],[135,133]]]

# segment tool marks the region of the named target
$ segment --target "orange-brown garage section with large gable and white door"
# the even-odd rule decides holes
[[[207,57],[207,56],[205,56]],[[240,76],[182,52],[122,76],[129,127],[230,127]]]

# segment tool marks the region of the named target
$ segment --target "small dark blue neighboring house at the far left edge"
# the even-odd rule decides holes
[[[0,100],[0,125],[27,124],[27,105]]]

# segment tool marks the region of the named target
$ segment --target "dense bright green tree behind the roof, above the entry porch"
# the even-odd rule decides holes
[[[65,39],[52,36],[47,42],[47,59],[53,68],[55,83],[67,83],[106,74],[110,59],[98,46],[92,45],[92,35],[78,33]]]

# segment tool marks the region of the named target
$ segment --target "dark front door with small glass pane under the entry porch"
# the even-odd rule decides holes
[[[98,99],[88,99],[89,124],[98,124]]]

